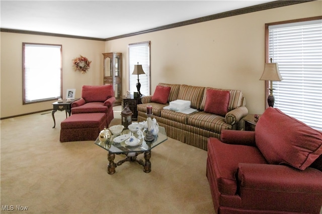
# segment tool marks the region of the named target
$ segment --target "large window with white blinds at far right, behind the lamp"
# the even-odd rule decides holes
[[[322,130],[322,20],[268,26],[268,58],[282,81],[273,81],[275,108]]]

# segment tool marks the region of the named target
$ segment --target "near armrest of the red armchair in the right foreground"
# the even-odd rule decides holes
[[[238,163],[237,179],[246,207],[318,213],[322,205],[322,172],[314,168]]]

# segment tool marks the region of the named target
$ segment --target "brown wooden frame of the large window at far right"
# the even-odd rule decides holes
[[[270,63],[270,60],[269,60],[269,58],[270,58],[269,57],[269,27],[270,26],[307,22],[307,21],[315,21],[315,20],[322,20],[322,16],[265,24],[265,63]],[[268,103],[267,103],[267,97],[269,95],[269,91],[267,90],[268,88],[269,88],[269,81],[265,81],[265,108],[268,108]]]

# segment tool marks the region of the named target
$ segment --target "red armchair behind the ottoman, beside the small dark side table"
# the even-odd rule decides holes
[[[71,104],[71,114],[106,113],[107,125],[114,118],[115,102],[113,85],[83,86],[82,98]]]

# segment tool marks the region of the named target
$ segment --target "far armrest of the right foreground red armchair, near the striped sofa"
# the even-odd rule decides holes
[[[255,131],[223,129],[221,130],[220,141],[227,144],[256,146]]]

